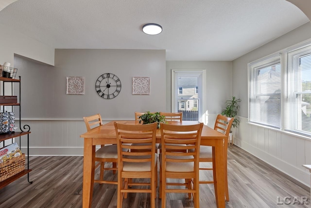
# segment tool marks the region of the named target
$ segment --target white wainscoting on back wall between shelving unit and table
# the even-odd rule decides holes
[[[25,124],[31,132],[29,155],[83,155],[84,139],[80,138],[86,132],[83,119],[23,119],[21,126]],[[19,144],[19,138],[15,141]],[[27,154],[27,136],[22,136],[19,146]]]

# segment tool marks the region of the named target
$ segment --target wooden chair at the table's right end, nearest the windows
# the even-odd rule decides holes
[[[226,117],[225,115],[218,114],[216,117],[214,130],[222,132],[226,135],[227,139],[229,137],[229,132],[232,126],[234,118]],[[228,178],[227,178],[227,152],[228,152],[228,141],[226,140],[225,143],[225,200],[229,201],[229,190],[228,190]],[[193,151],[193,150],[190,150]],[[213,155],[212,155],[212,147],[209,146],[201,146],[200,147],[200,162],[213,162]],[[200,168],[200,170],[213,170],[213,168]],[[215,172],[213,171],[213,178],[215,178]],[[212,184],[213,181],[199,181],[200,184]]]

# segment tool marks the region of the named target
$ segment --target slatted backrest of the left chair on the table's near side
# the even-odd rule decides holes
[[[150,162],[155,167],[155,139],[157,123],[144,125],[129,125],[114,122],[117,145],[118,145],[118,166],[123,170],[123,162],[137,163]],[[129,148],[131,150],[124,151]],[[151,171],[152,169],[150,169]]]

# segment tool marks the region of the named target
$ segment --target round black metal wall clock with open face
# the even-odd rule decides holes
[[[112,99],[121,91],[121,81],[118,76],[106,73],[99,76],[95,83],[95,89],[99,96],[104,99]]]

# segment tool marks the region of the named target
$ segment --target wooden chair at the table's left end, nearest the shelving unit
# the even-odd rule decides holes
[[[102,126],[103,120],[101,114],[95,114],[87,117],[83,117],[84,122],[86,123],[86,130],[87,132],[91,131],[92,129]],[[118,184],[117,181],[105,181],[104,180],[104,170],[112,170],[113,173],[116,173],[118,170],[117,163],[118,163],[118,150],[117,145],[107,145],[102,147],[96,151],[95,153],[95,162],[99,162],[95,165],[95,169],[100,165],[100,178],[99,180],[94,179],[94,183],[100,184]],[[112,162],[112,168],[104,168],[105,162]]]

